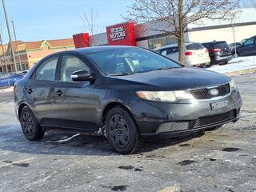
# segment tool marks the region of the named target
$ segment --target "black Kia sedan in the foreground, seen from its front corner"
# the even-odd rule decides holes
[[[15,83],[14,100],[27,139],[46,130],[102,133],[122,154],[142,137],[235,122],[242,106],[231,78],[131,46],[51,54]]]

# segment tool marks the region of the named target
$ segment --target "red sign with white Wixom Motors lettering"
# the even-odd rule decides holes
[[[134,22],[107,26],[106,35],[110,46],[136,46]]]

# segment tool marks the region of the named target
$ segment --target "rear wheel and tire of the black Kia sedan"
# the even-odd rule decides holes
[[[28,140],[38,141],[42,139],[45,132],[38,125],[37,119],[34,117],[32,110],[30,110],[28,106],[23,107],[20,122],[23,134]]]

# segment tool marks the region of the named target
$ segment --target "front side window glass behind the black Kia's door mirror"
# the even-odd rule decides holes
[[[82,62],[80,58],[72,55],[63,56],[61,65],[61,81],[72,82],[70,76],[76,70],[87,70],[88,72],[90,71],[89,67],[86,66],[86,64]]]

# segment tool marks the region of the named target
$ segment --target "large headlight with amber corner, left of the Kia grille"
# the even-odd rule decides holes
[[[186,90],[175,91],[137,91],[139,98],[156,102],[178,102],[180,100],[194,99]]]

